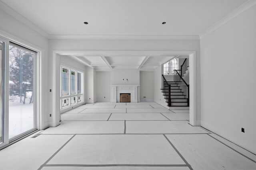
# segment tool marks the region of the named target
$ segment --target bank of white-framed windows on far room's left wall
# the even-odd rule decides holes
[[[60,80],[60,109],[65,109],[67,107],[74,106],[82,102],[83,72],[68,68],[66,66],[61,66]]]

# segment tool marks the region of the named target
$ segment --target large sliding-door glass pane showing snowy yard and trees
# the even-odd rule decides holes
[[[35,53],[18,45],[9,49],[9,139],[35,129]]]

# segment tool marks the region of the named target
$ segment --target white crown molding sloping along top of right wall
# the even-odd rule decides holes
[[[222,25],[224,25],[228,21],[232,20],[236,16],[242,14],[242,12],[248,10],[250,7],[254,6],[255,4],[256,4],[256,0],[248,0],[247,2],[242,4],[240,7],[238,7],[236,10],[234,10],[233,12],[231,12],[230,14],[228,14],[227,16],[222,18],[220,21],[218,21],[214,25],[210,26],[204,32],[200,33],[199,34],[200,39],[202,39],[203,37],[205,37],[206,35],[208,35],[212,31],[218,29],[219,27],[221,27]]]

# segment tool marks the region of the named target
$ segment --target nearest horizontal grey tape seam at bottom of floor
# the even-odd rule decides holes
[[[110,166],[140,166],[140,167],[187,167],[186,164],[48,164],[47,167],[110,167]]]

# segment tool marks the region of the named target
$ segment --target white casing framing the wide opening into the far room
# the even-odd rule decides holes
[[[53,117],[53,126],[60,124],[60,109],[56,109],[56,106],[60,106],[59,100],[59,88],[60,88],[60,77],[58,69],[60,68],[60,55],[92,55],[92,56],[173,56],[173,55],[189,55],[190,61],[190,124],[197,125],[196,121],[196,51],[74,51],[74,50],[58,50],[53,51],[52,60],[53,60],[53,88],[55,92],[53,93],[52,101],[52,117]],[[57,73],[57,74],[56,74]],[[161,75],[160,75],[161,76]],[[58,92],[56,92],[56,90]],[[85,94],[86,95],[86,94]],[[58,99],[58,100],[56,100]],[[140,102],[138,100],[138,102]],[[155,101],[156,102],[156,101]],[[86,102],[86,103],[95,103]],[[156,102],[158,103],[158,102]],[[161,105],[161,104],[160,104]],[[164,106],[166,107],[166,106]],[[166,107],[168,108],[168,107]]]

